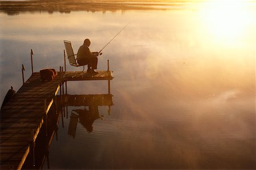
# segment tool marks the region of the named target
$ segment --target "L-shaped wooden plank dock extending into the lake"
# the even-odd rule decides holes
[[[63,69],[62,69],[63,70]],[[40,73],[33,73],[16,92],[1,112],[0,169],[21,169],[28,153],[34,148],[34,142],[61,85],[74,80],[110,80],[112,71],[99,71],[90,74],[81,71],[58,72],[50,82],[42,82]],[[62,93],[64,86],[62,86]],[[66,84],[67,92],[67,84]],[[98,96],[102,97],[102,96]],[[103,96],[106,99],[112,95]],[[69,100],[71,98],[69,97]],[[111,104],[111,103],[110,103]],[[75,105],[75,104],[74,104]],[[47,126],[46,126],[47,127]]]

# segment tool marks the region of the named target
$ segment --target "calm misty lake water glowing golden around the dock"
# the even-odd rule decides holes
[[[130,22],[130,23],[129,23]],[[113,70],[113,103],[75,138],[64,128],[49,148],[51,169],[254,169],[255,5],[188,3],[170,10],[0,13],[1,103],[34,71],[64,65],[85,38]],[[82,68],[68,66],[67,70]],[[107,82],[68,82],[68,94],[106,94]],[[43,168],[48,168],[47,163]]]

